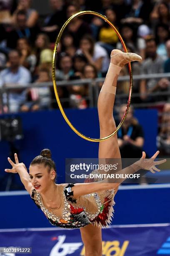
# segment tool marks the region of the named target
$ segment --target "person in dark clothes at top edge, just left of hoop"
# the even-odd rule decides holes
[[[56,34],[64,24],[66,16],[63,0],[50,0],[50,5],[53,13],[45,18],[42,31],[47,33],[47,36],[50,38],[50,42],[54,43],[56,40]]]

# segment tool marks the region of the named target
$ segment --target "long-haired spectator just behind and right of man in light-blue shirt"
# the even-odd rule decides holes
[[[26,38],[18,39],[17,50],[20,53],[20,65],[29,69],[30,72],[33,72],[35,69],[37,58],[35,54],[32,54],[31,47],[28,44],[28,40]]]

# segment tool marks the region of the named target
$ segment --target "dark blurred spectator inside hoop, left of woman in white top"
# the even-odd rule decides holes
[[[73,57],[76,52],[74,38],[70,33],[65,33],[62,36],[62,51]]]

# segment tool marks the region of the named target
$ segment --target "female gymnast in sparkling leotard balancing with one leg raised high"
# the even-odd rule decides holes
[[[100,138],[110,135],[116,129],[113,118],[113,105],[117,77],[122,67],[130,61],[140,61],[137,54],[123,53],[113,50],[110,67],[98,98],[98,115],[100,121]],[[145,152],[141,159],[131,166],[120,170],[120,173],[135,173],[139,169],[151,172],[160,171],[155,165],[166,160],[155,161],[157,151],[151,159],[145,159]],[[99,159],[120,159],[117,134],[99,144]],[[25,189],[30,193],[35,204],[45,213],[52,225],[61,228],[80,228],[82,241],[85,245],[85,256],[102,255],[101,227],[110,223],[113,212],[114,196],[119,184],[117,182],[100,180],[83,184],[56,184],[55,163],[51,159],[50,150],[44,149],[40,156],[32,160],[29,174],[23,163],[19,163],[15,154],[15,163],[8,158],[13,166],[6,172],[18,173]],[[95,170],[93,172],[99,172]]]

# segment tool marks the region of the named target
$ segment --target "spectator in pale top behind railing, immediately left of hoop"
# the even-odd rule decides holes
[[[28,90],[31,102],[27,102],[21,106],[21,111],[36,111],[49,109],[51,104],[50,87],[41,87],[42,83],[50,82],[50,72],[48,68],[40,68],[38,78],[35,81],[39,87]]]

